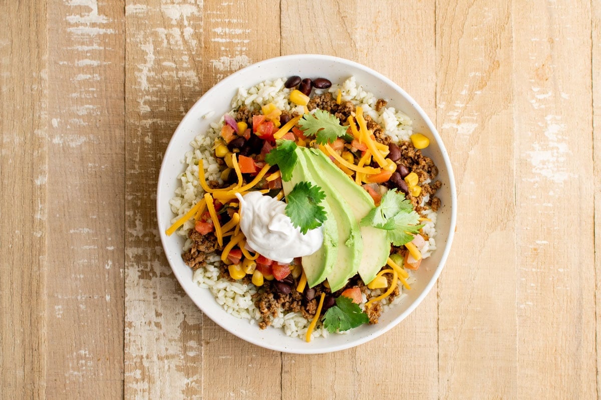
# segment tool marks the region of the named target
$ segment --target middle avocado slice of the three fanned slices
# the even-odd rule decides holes
[[[338,191],[338,185],[334,186],[334,182],[329,178],[332,174],[328,174],[328,171],[332,167],[339,171],[340,169],[331,161],[329,164],[320,162],[319,160],[325,157],[322,152],[316,149],[301,148],[301,154],[307,161],[307,169],[313,175],[314,182],[326,194],[326,201],[332,209],[330,215],[334,217],[338,227],[338,258],[335,268],[328,275],[330,289],[334,292],[343,288],[349,278],[357,273],[363,256],[364,243],[361,240],[359,221],[353,215],[349,202],[345,200],[345,198],[349,201],[354,201],[354,199],[348,197],[344,191]],[[342,171],[340,172],[344,175]],[[335,181],[340,181],[338,176],[335,178]],[[344,175],[344,179],[350,185],[355,185],[346,175]]]

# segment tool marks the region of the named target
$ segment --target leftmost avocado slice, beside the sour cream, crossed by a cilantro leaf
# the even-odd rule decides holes
[[[300,149],[297,148],[295,152],[298,155],[299,161],[292,170],[292,179],[288,182],[282,180],[282,189],[286,196],[293,190],[294,185],[299,182],[315,182],[313,176],[307,169],[307,164],[302,157]],[[332,209],[326,200],[323,200],[320,203],[320,206],[323,207],[326,215],[332,215]],[[309,287],[314,287],[325,281],[326,277],[332,272],[332,269],[334,269],[334,264],[338,255],[338,227],[334,218],[328,218],[323,222],[322,233],[323,244],[319,250],[313,254],[302,257],[302,267],[307,276],[307,284]]]

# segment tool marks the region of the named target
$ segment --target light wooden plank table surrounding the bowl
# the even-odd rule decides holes
[[[0,397],[592,399],[601,2],[0,0]],[[453,161],[438,285],[380,338],[276,353],[175,281],[155,187],[218,80],[327,53],[391,77]]]

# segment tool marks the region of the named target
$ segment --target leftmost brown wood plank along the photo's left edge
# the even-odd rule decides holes
[[[43,1],[0,26],[0,398],[46,396],[47,26]],[[23,29],[23,24],[28,29]]]

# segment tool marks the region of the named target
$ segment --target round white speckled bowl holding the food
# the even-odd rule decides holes
[[[248,320],[227,314],[208,289],[198,287],[192,282],[192,270],[182,260],[182,237],[175,234],[166,236],[165,234],[165,229],[169,227],[169,221],[174,216],[169,206],[169,199],[178,186],[177,176],[185,170],[182,159],[185,152],[191,149],[189,143],[195,136],[205,132],[209,128],[210,122],[218,120],[231,109],[231,98],[240,86],[248,88],[267,79],[293,75],[326,77],[334,83],[355,76],[356,82],[363,85],[367,91],[373,92],[377,97],[389,99],[390,106],[403,111],[413,120],[414,132],[423,133],[430,138],[431,145],[424,151],[424,154],[432,158],[438,166],[438,179],[442,182],[442,188],[437,194],[442,200],[436,224],[438,249],[430,258],[425,259],[419,270],[416,271],[417,282],[412,284],[411,290],[407,291],[408,295],[401,303],[383,312],[377,324],[365,324],[350,330],[346,335],[333,334],[328,338],[313,339],[310,343],[286,336],[282,329],[268,327],[261,330],[257,324],[250,324]],[[212,111],[215,112],[212,118],[203,118]],[[272,350],[287,353],[327,353],[350,348],[382,335],[407,317],[426,297],[440,275],[451,248],[455,229],[456,203],[453,171],[441,137],[426,113],[403,89],[382,74],[356,62],[324,55],[291,55],[261,61],[231,74],[213,86],[192,106],[175,130],[160,167],[157,188],[157,221],[165,255],[177,280],[198,308],[215,323],[240,339]]]

